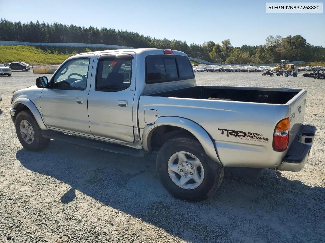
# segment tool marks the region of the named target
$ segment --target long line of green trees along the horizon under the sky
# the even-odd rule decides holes
[[[185,52],[188,56],[214,63],[262,64],[280,60],[321,62],[325,48],[313,46],[300,35],[268,36],[264,45],[233,47],[230,40],[219,43],[206,41],[202,45],[180,40],[156,39],[114,28],[81,27],[45,22],[21,23],[0,19],[1,41],[95,43],[136,48],[165,48]]]

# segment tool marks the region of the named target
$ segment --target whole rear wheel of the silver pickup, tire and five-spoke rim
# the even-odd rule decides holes
[[[207,156],[197,140],[186,136],[162,145],[156,169],[162,186],[175,198],[189,202],[213,195],[224,176],[224,167]]]

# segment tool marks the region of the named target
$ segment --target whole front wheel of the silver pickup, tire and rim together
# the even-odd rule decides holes
[[[29,110],[18,113],[15,127],[19,142],[25,149],[39,151],[49,144],[50,139],[42,136],[42,130]]]

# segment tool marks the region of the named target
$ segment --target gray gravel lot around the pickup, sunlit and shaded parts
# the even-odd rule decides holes
[[[255,182],[226,172],[212,198],[185,203],[162,188],[155,154],[133,158],[55,141],[29,152],[10,119],[10,95],[39,75],[13,72],[0,76],[0,242],[325,242],[324,81],[302,72],[195,75],[200,85],[306,88],[305,123],[317,135],[305,168],[267,169]]]

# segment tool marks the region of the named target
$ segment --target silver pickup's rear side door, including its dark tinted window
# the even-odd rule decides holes
[[[135,60],[130,54],[99,56],[95,87],[88,96],[89,126],[95,137],[134,142]]]

